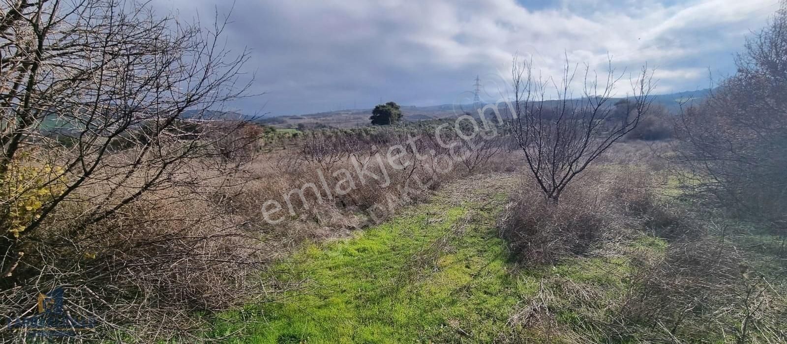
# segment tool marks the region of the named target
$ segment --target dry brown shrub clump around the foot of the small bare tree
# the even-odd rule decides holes
[[[526,181],[501,218],[501,234],[527,262],[597,251],[641,221],[640,208],[655,204],[651,188],[648,173],[633,176],[615,166],[600,167],[587,171],[555,204]]]

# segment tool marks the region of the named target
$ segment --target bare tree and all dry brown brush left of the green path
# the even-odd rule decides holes
[[[4,342],[202,340],[213,314],[298,287],[257,277],[295,244],[499,168],[497,145],[465,166],[427,126],[264,145],[264,128],[221,111],[247,95],[246,53],[220,49],[222,21],[152,12],[2,5]]]

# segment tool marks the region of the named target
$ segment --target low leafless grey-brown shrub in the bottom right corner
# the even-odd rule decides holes
[[[619,324],[652,328],[641,335],[645,339],[787,339],[778,324],[784,312],[778,291],[730,243],[708,238],[672,243],[663,259],[638,266],[632,280]]]

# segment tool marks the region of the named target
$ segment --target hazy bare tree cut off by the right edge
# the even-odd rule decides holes
[[[748,38],[737,73],[678,117],[677,160],[696,191],[787,228],[787,5]],[[783,234],[783,232],[782,232]]]

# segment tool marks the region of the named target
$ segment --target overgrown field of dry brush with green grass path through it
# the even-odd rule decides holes
[[[131,200],[66,254],[83,273],[120,264],[88,284],[113,302],[146,288],[123,312],[92,306],[126,324],[123,342],[784,341],[784,236],[697,193],[701,177],[665,158],[677,141],[624,137],[558,203],[502,128],[460,139],[441,123],[241,123],[218,142],[232,155],[179,167],[200,178]],[[105,168],[105,183],[124,177]],[[102,192],[81,188],[42,235],[72,230]]]

